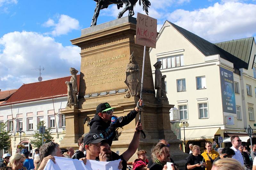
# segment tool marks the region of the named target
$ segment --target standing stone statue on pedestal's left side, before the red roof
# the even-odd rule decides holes
[[[78,93],[78,88],[77,88],[77,79],[76,79],[76,74],[78,71],[75,68],[70,68],[69,69],[70,74],[72,75],[70,78],[70,81],[66,81],[65,83],[67,84],[68,87],[68,103],[67,106],[77,106],[77,98],[76,95]]]

